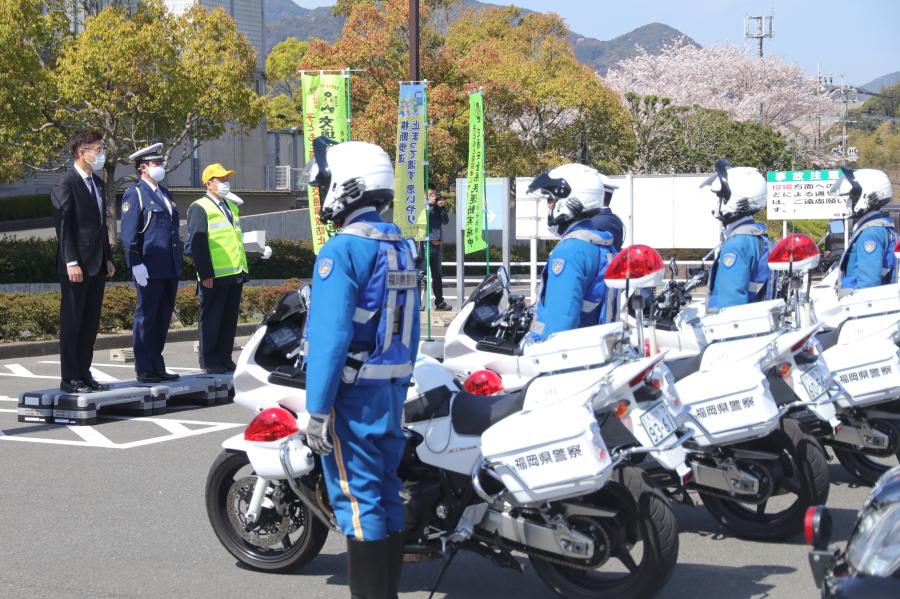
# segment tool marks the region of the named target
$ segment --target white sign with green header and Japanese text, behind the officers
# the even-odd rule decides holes
[[[828,195],[839,176],[837,170],[769,171],[766,173],[769,220],[846,218],[847,198]]]

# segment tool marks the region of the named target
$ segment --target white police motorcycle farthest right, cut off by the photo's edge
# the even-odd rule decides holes
[[[848,471],[874,484],[900,456],[900,284],[839,293],[837,264],[815,284],[798,276],[818,258],[812,239],[795,234],[781,245],[793,264],[781,269],[792,318],[821,324],[816,351],[845,391],[836,398],[840,424],[816,432]]]

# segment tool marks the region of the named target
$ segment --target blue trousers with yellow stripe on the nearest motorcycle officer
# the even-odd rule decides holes
[[[328,494],[348,537],[377,541],[403,530],[397,467],[406,438],[406,386],[341,384],[329,422],[334,450],[322,456]]]

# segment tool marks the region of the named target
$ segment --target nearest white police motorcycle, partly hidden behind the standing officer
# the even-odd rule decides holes
[[[255,417],[223,443],[206,483],[217,537],[259,570],[303,566],[337,530],[320,460],[304,442],[307,297],[286,294],[241,352],[235,402]],[[521,569],[512,554],[521,552],[565,597],[647,597],[665,584],[678,556],[675,519],[630,461],[677,451],[685,438],[663,430],[650,447],[605,441],[599,422],[633,409],[623,401],[658,359],[597,369],[593,355],[620,331],[589,332],[591,343],[566,354],[532,354],[536,375],[512,394],[474,395],[437,361],[416,362],[399,469],[407,560],[467,549]]]

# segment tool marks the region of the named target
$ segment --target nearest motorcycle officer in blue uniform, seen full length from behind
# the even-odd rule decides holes
[[[320,220],[340,232],[316,259],[309,313],[307,443],[322,454],[331,505],[347,535],[352,597],[396,597],[404,548],[403,402],[419,343],[415,259],[379,213],[394,196],[380,147],[313,143],[306,178]]]

